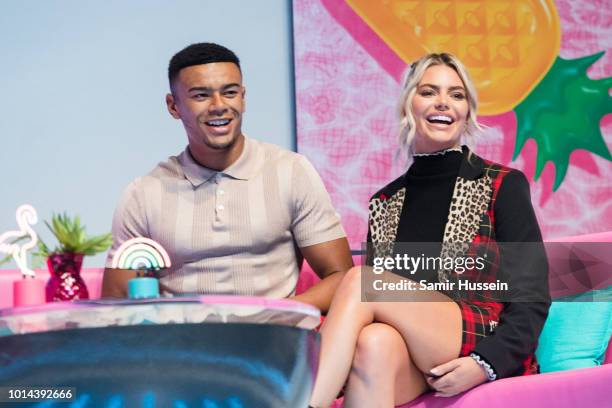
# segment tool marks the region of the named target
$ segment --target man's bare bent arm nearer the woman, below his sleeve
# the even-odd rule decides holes
[[[344,273],[353,266],[348,241],[346,238],[338,238],[300,250],[321,281],[292,299],[311,304],[327,313]]]

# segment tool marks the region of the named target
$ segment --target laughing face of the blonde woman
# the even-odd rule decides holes
[[[431,153],[460,145],[469,112],[465,86],[454,69],[433,65],[425,71],[407,106],[414,115],[415,153]]]

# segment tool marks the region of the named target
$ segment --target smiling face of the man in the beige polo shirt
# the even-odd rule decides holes
[[[231,62],[193,65],[179,71],[166,97],[170,114],[183,122],[196,156],[229,151],[242,134],[245,89]]]

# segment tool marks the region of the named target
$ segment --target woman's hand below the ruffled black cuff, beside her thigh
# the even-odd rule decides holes
[[[487,380],[483,368],[472,357],[461,357],[431,369],[435,377],[427,377],[427,383],[435,389],[436,397],[452,397],[482,384]]]

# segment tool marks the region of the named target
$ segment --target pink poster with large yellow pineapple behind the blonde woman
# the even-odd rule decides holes
[[[612,230],[609,1],[294,0],[298,151],[359,248],[367,201],[406,169],[406,67],[451,52],[470,70],[474,151],[522,170],[544,238]]]

